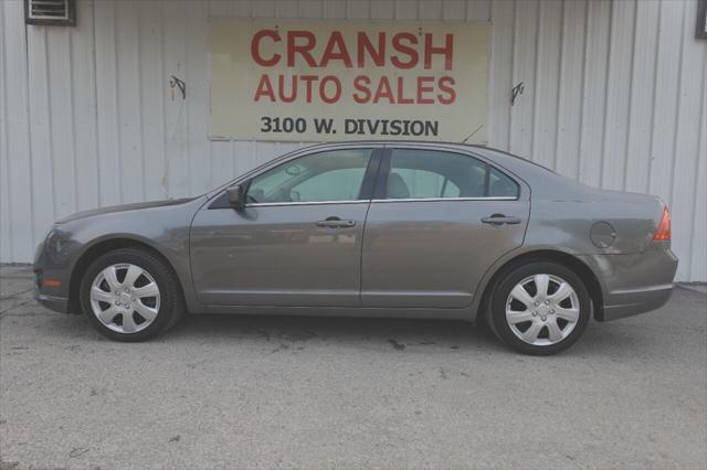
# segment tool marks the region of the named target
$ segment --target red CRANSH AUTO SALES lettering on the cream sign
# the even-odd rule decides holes
[[[289,30],[282,34],[273,29],[256,31],[251,40],[251,58],[266,72],[257,81],[253,100],[331,105],[344,94],[350,94],[359,105],[451,105],[456,100],[456,83],[450,75],[454,66],[454,34],[369,35],[360,31],[351,42],[347,43],[341,32],[333,31],[321,49],[310,31]],[[334,74],[296,73],[303,67],[326,70],[331,65],[361,71],[379,67],[390,74],[373,77],[361,73],[346,82]],[[397,73],[411,68],[420,73],[416,76]]]

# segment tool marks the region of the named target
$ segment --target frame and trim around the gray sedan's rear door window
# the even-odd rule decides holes
[[[407,199],[387,199],[387,186],[388,186],[388,175],[390,174],[390,170],[391,170],[391,162],[392,162],[392,153],[394,150],[420,150],[420,151],[435,151],[435,152],[444,152],[444,153],[452,153],[455,156],[460,156],[460,157],[465,157],[465,158],[471,158],[474,159],[476,161],[478,161],[479,163],[482,163],[485,168],[486,168],[486,174],[484,175],[484,191],[486,191],[486,185],[488,184],[488,179],[490,178],[490,169],[494,169],[496,171],[498,171],[500,174],[505,175],[506,178],[508,178],[510,181],[514,182],[514,184],[516,185],[516,188],[518,189],[518,193],[515,196],[474,196],[474,197],[407,197]],[[519,201],[520,200],[520,195],[523,193],[523,185],[518,182],[517,179],[513,178],[511,175],[508,174],[507,171],[504,171],[503,169],[498,168],[498,165],[489,163],[486,159],[484,158],[478,158],[468,153],[464,153],[464,152],[460,152],[460,151],[452,151],[449,149],[437,149],[437,148],[422,148],[422,147],[411,147],[411,146],[387,146],[384,151],[383,151],[383,156],[382,156],[382,161],[380,163],[380,170],[378,172],[378,178],[376,179],[376,191],[373,193],[373,197],[371,199],[371,202],[440,202],[440,201]]]

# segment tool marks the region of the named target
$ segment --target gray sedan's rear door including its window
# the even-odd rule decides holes
[[[387,149],[363,236],[363,307],[463,308],[523,244],[529,191],[465,153]]]

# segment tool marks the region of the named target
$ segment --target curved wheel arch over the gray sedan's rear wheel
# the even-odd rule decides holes
[[[498,281],[516,266],[524,265],[530,261],[555,261],[574,271],[574,274],[577,274],[582,279],[584,286],[587,287],[587,290],[589,291],[589,297],[592,300],[594,320],[604,320],[603,291],[594,271],[578,257],[557,249],[536,249],[531,252],[525,252],[504,261],[494,271],[486,285],[483,287],[484,293],[482,295],[482,299],[476,309],[477,318],[479,317],[479,314],[484,316],[486,312],[488,312],[489,301],[494,289],[498,285]]]

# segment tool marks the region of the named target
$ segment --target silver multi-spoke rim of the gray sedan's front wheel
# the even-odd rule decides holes
[[[159,312],[159,300],[157,282],[136,265],[110,265],[91,286],[93,313],[118,333],[137,333],[149,327]]]

